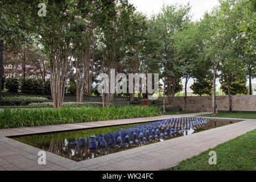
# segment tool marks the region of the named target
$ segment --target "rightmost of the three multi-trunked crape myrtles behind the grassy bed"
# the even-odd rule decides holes
[[[100,28],[100,48],[102,49],[101,73],[108,75],[108,80],[104,80],[106,88],[102,86],[102,106],[109,107],[114,97],[115,85],[111,85],[111,72],[115,75],[121,65],[123,57],[127,52],[127,38],[131,34],[133,23],[134,7],[128,1],[113,1],[108,5],[109,11],[105,14],[104,22]],[[113,72],[112,72],[113,73]],[[112,78],[112,79],[115,79]],[[114,81],[115,83],[115,81]]]

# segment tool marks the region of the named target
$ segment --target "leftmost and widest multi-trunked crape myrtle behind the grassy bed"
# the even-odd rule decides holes
[[[58,109],[63,104],[68,65],[71,61],[71,28],[75,19],[71,9],[75,6],[75,1],[15,1],[14,3],[26,9],[26,14],[19,14],[19,17],[26,16],[22,24],[29,28],[35,39],[47,51],[53,106]],[[45,7],[40,3],[44,3]]]

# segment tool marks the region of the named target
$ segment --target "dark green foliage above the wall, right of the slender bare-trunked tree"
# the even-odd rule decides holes
[[[232,96],[236,96],[237,94],[247,95],[249,93],[249,89],[246,86],[246,76],[241,75],[234,77],[234,81],[230,85],[230,93]],[[223,76],[220,76],[221,90],[228,95],[228,84],[224,80]]]

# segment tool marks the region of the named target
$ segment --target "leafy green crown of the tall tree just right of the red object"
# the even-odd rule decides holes
[[[182,31],[185,28],[184,25],[190,21],[188,15],[190,9],[189,5],[163,6],[162,11],[153,15],[148,22],[150,26],[148,44],[151,44],[147,50],[148,62],[153,65],[158,63],[160,67],[164,68],[162,77],[166,76],[168,85],[179,80],[187,72],[183,63],[185,58],[179,56],[184,53],[185,49],[183,47],[175,49],[174,44],[175,40],[178,39],[175,39],[175,32]],[[168,89],[168,92],[170,92],[170,96],[171,90]]]

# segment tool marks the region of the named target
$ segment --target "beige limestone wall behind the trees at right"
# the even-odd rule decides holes
[[[163,97],[158,100],[163,101]],[[232,96],[233,110],[256,111],[256,95],[253,96]],[[166,103],[167,103],[166,97]],[[228,96],[216,96],[217,109],[229,110]],[[174,105],[184,110],[184,97],[174,97]],[[187,97],[188,111],[212,111],[212,96]]]

